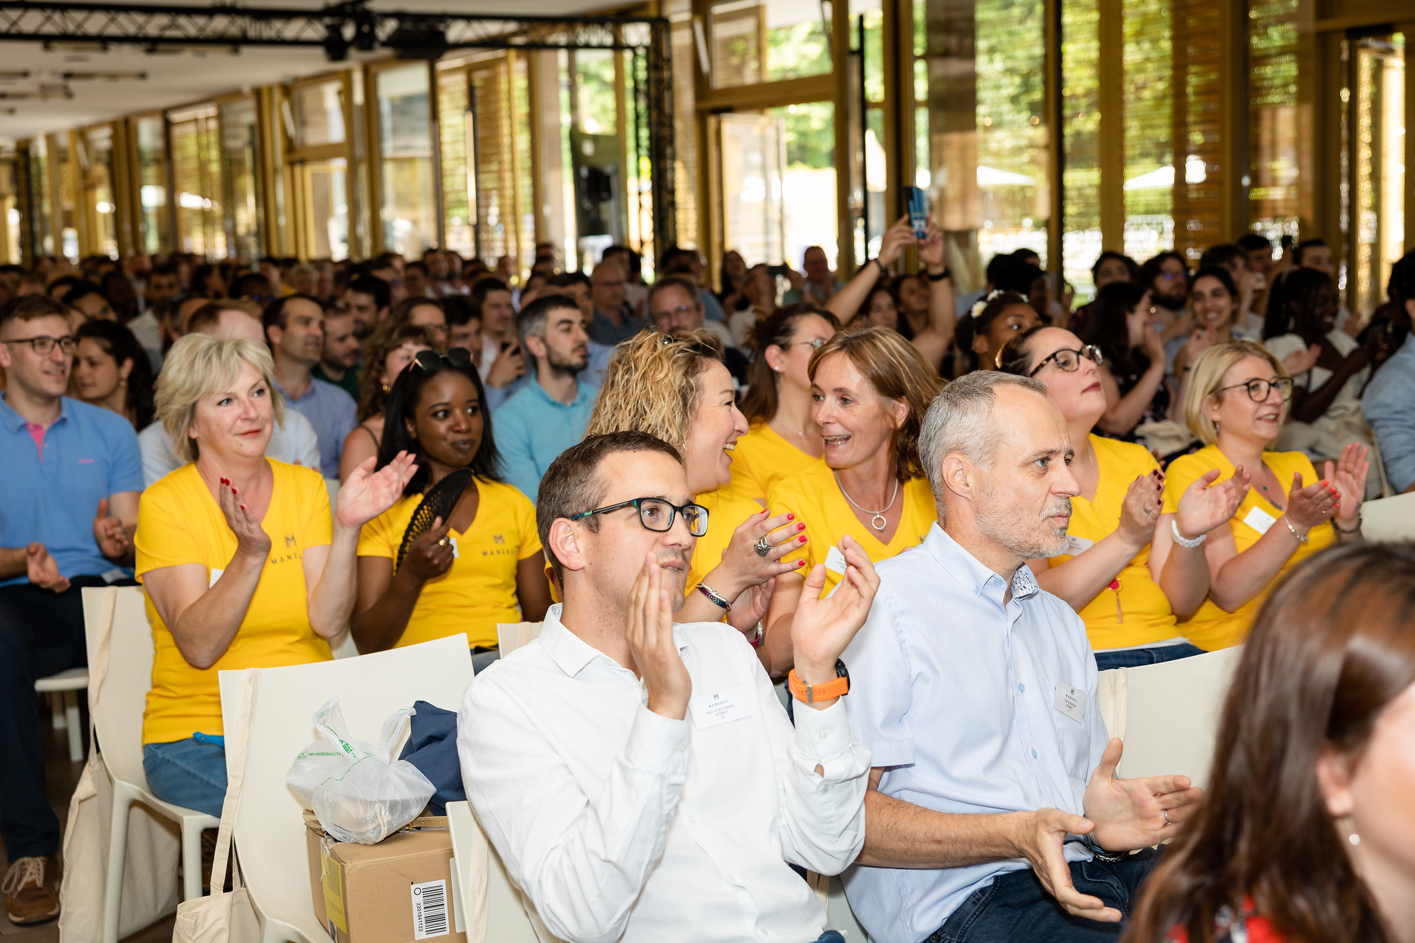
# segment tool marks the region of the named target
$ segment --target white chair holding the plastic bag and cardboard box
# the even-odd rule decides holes
[[[236,724],[241,676],[219,673],[228,728]],[[317,737],[310,721],[314,711],[338,696],[354,735],[376,739],[388,715],[413,701],[457,710],[470,683],[466,635],[337,662],[260,669],[235,831],[262,943],[330,939],[314,918],[303,809],[284,782],[296,754]]]

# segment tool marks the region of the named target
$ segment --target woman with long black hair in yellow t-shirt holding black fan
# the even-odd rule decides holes
[[[498,622],[538,622],[550,605],[535,505],[499,481],[484,402],[466,348],[446,356],[419,351],[393,382],[378,459],[406,450],[420,468],[403,499],[371,522],[358,544],[359,652],[466,632],[473,667],[481,670],[497,659]],[[460,469],[471,476],[449,502],[446,519],[434,517],[399,560],[424,492]]]

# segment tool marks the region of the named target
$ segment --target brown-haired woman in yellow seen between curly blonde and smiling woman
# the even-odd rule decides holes
[[[809,303],[777,308],[757,321],[750,386],[741,400],[747,434],[732,454],[732,493],[766,502],[778,481],[821,457],[821,430],[811,421],[811,355],[841,322]],[[709,530],[710,533],[710,530]]]

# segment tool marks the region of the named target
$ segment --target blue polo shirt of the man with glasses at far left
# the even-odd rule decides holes
[[[45,430],[10,409],[0,393],[0,547],[24,547],[38,540],[65,577],[98,577],[115,567],[93,540],[98,502],[125,491],[143,489],[143,458],[137,433],[119,416],[68,396],[59,418]],[[0,585],[28,582],[18,575]]]

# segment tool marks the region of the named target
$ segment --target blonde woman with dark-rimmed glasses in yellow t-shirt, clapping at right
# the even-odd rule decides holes
[[[1302,452],[1269,452],[1282,430],[1292,380],[1282,362],[1251,341],[1204,351],[1190,372],[1184,421],[1204,448],[1176,458],[1165,482],[1165,510],[1201,475],[1244,469],[1252,486],[1228,527],[1204,546],[1213,581],[1208,598],[1183,629],[1201,649],[1238,645],[1272,584],[1293,564],[1361,532],[1361,500],[1371,468],[1367,450],[1347,445],[1324,476]],[[1310,484],[1307,484],[1310,482]]]

